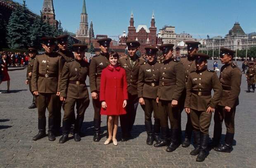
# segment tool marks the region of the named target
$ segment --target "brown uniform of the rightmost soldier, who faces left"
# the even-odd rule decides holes
[[[225,143],[232,145],[235,133],[235,110],[239,104],[239,93],[242,72],[233,62],[223,65],[220,70],[220,84],[223,87],[223,94],[218,107],[214,113],[213,142],[220,143],[222,133],[222,122],[225,121],[227,133]],[[225,106],[231,108],[230,112],[225,111]]]

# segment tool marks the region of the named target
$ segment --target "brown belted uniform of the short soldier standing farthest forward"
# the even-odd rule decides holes
[[[214,90],[213,97],[211,97],[212,89]],[[209,106],[216,108],[221,95],[222,87],[215,71],[206,67],[201,71],[190,73],[187,79],[185,108],[190,108],[193,131],[209,135],[212,114],[207,113],[206,110]]]

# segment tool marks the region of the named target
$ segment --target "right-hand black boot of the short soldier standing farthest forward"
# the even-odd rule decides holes
[[[200,137],[201,143],[200,143],[200,152],[197,155],[197,159],[196,161],[204,161],[204,159],[206,158],[206,149],[207,149],[207,145],[208,145],[208,140],[209,140],[209,135],[205,134],[205,133],[201,133],[201,137]]]

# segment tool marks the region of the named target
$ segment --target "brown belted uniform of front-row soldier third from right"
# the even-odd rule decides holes
[[[181,62],[167,60],[161,66],[161,76],[157,96],[159,97],[159,116],[163,139],[167,137],[168,117],[171,123],[171,140],[178,144],[180,113],[179,106],[171,107],[172,100],[179,104],[185,88],[185,71]]]

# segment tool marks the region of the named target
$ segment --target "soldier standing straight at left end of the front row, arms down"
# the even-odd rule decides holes
[[[36,106],[38,108],[38,129],[39,132],[33,137],[38,140],[46,136],[45,126],[46,108],[49,112],[48,117],[48,138],[50,141],[55,140],[55,120],[57,108],[59,106],[59,80],[62,69],[62,57],[53,52],[56,39],[53,37],[43,37],[43,48],[45,53],[37,55],[32,72],[31,87],[36,96]]]

